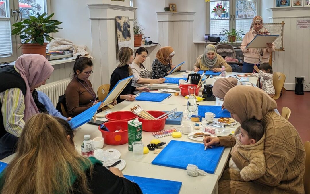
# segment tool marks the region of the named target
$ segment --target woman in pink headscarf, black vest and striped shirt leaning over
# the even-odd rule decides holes
[[[14,66],[0,69],[0,159],[14,152],[25,121],[39,112],[31,93],[53,70],[44,56],[35,54],[22,55]]]

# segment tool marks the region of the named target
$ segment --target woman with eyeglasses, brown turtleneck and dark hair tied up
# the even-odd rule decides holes
[[[72,80],[64,92],[69,116],[76,116],[93,106],[93,102],[98,102],[91,81],[88,80],[92,73],[91,59],[78,55],[73,66]]]

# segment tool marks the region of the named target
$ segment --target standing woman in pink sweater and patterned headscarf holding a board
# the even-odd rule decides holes
[[[254,39],[256,35],[270,35],[264,27],[263,18],[255,16],[253,18],[250,31],[246,33],[241,43],[241,50],[244,55],[242,72],[252,73],[254,65],[260,63],[268,63],[270,53],[275,50],[273,43],[267,43],[266,48],[246,48],[246,46]]]

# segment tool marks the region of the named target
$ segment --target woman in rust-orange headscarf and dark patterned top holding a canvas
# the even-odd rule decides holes
[[[172,57],[175,52],[172,47],[161,47],[156,53],[156,59],[154,59],[152,64],[153,78],[160,79],[166,77],[175,68],[172,65]],[[181,67],[178,69],[181,70]]]

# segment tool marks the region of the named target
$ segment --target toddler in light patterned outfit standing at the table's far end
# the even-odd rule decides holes
[[[259,68],[255,65],[254,69],[257,73],[247,73],[245,75],[255,75],[255,77],[260,78],[260,86],[270,97],[274,97],[275,90],[273,86],[273,74],[272,67],[269,63],[263,63]]]

